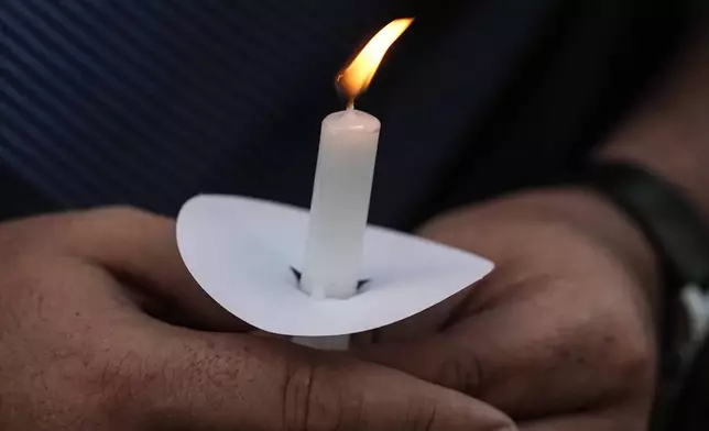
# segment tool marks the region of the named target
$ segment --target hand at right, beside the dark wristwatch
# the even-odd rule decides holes
[[[528,192],[423,234],[497,268],[374,332],[359,355],[489,402],[523,431],[646,429],[657,277],[650,247],[614,208],[580,190]]]

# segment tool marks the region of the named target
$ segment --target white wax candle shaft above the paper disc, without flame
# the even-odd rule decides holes
[[[357,292],[379,120],[347,110],[323,121],[301,286],[315,298]]]

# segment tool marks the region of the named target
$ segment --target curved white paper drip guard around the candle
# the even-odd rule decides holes
[[[368,226],[360,288],[347,299],[299,289],[308,211],[237,196],[203,195],[177,218],[177,245],[195,280],[221,307],[263,331],[332,338],[414,316],[490,273],[478,255]],[[307,343],[306,343],[307,344]]]

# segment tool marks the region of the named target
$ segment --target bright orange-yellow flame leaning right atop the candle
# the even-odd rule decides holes
[[[413,18],[391,22],[380,30],[340,73],[337,85],[348,98],[348,108],[354,107],[354,99],[367,90],[389,48],[413,22]]]

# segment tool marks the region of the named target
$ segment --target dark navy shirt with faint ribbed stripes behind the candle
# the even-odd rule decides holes
[[[358,107],[383,124],[371,219],[563,177],[628,111],[683,2],[0,0],[3,217],[198,192],[309,205],[334,78],[415,15]]]

